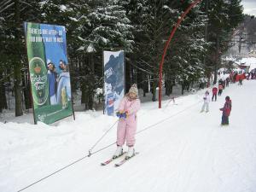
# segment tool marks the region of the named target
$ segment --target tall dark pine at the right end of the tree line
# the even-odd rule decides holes
[[[218,68],[221,67],[221,55],[228,49],[227,39],[230,39],[234,27],[242,20],[241,0],[216,0],[209,3],[208,11],[208,50],[207,67],[214,73],[213,84],[217,82]]]

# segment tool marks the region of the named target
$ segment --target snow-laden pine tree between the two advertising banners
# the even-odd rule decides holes
[[[101,70],[97,70],[100,74],[95,74],[95,61],[92,58],[102,58],[104,49],[131,51],[133,36],[131,21],[126,17],[125,9],[118,1],[90,2],[89,6],[91,10],[87,15],[88,21],[84,22],[84,34],[79,39],[83,43],[80,52],[85,52],[89,57],[89,66],[86,67],[87,73],[84,76],[87,81],[84,85],[90,90],[89,97],[92,98],[93,91],[101,86],[98,82],[101,82],[99,75],[102,75],[101,67]],[[97,62],[101,60],[98,59]]]

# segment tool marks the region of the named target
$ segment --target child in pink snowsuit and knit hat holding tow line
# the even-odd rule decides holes
[[[129,92],[119,103],[118,117],[119,124],[117,128],[117,149],[113,154],[113,159],[123,154],[122,146],[125,143],[128,146],[128,152],[125,159],[131,158],[135,153],[135,134],[137,131],[137,111],[140,108],[140,100],[138,99],[137,84],[132,84]]]

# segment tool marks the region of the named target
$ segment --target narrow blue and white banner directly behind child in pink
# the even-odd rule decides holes
[[[104,113],[113,116],[125,94],[124,51],[103,51]]]

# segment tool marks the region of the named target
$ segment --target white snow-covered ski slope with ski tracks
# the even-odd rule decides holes
[[[22,191],[254,192],[255,87],[255,80],[230,84],[209,113],[200,113],[205,90],[177,98],[177,105],[165,101],[162,109],[158,102],[144,102],[138,113],[140,154],[120,167],[100,166],[114,144],[86,157],[117,120],[102,112],[79,112],[75,121],[55,125],[32,125],[31,115],[0,123],[0,191],[19,191],[46,177]],[[218,109],[225,96],[233,108],[230,126],[221,127]],[[115,134],[116,126],[91,152],[114,143]]]

